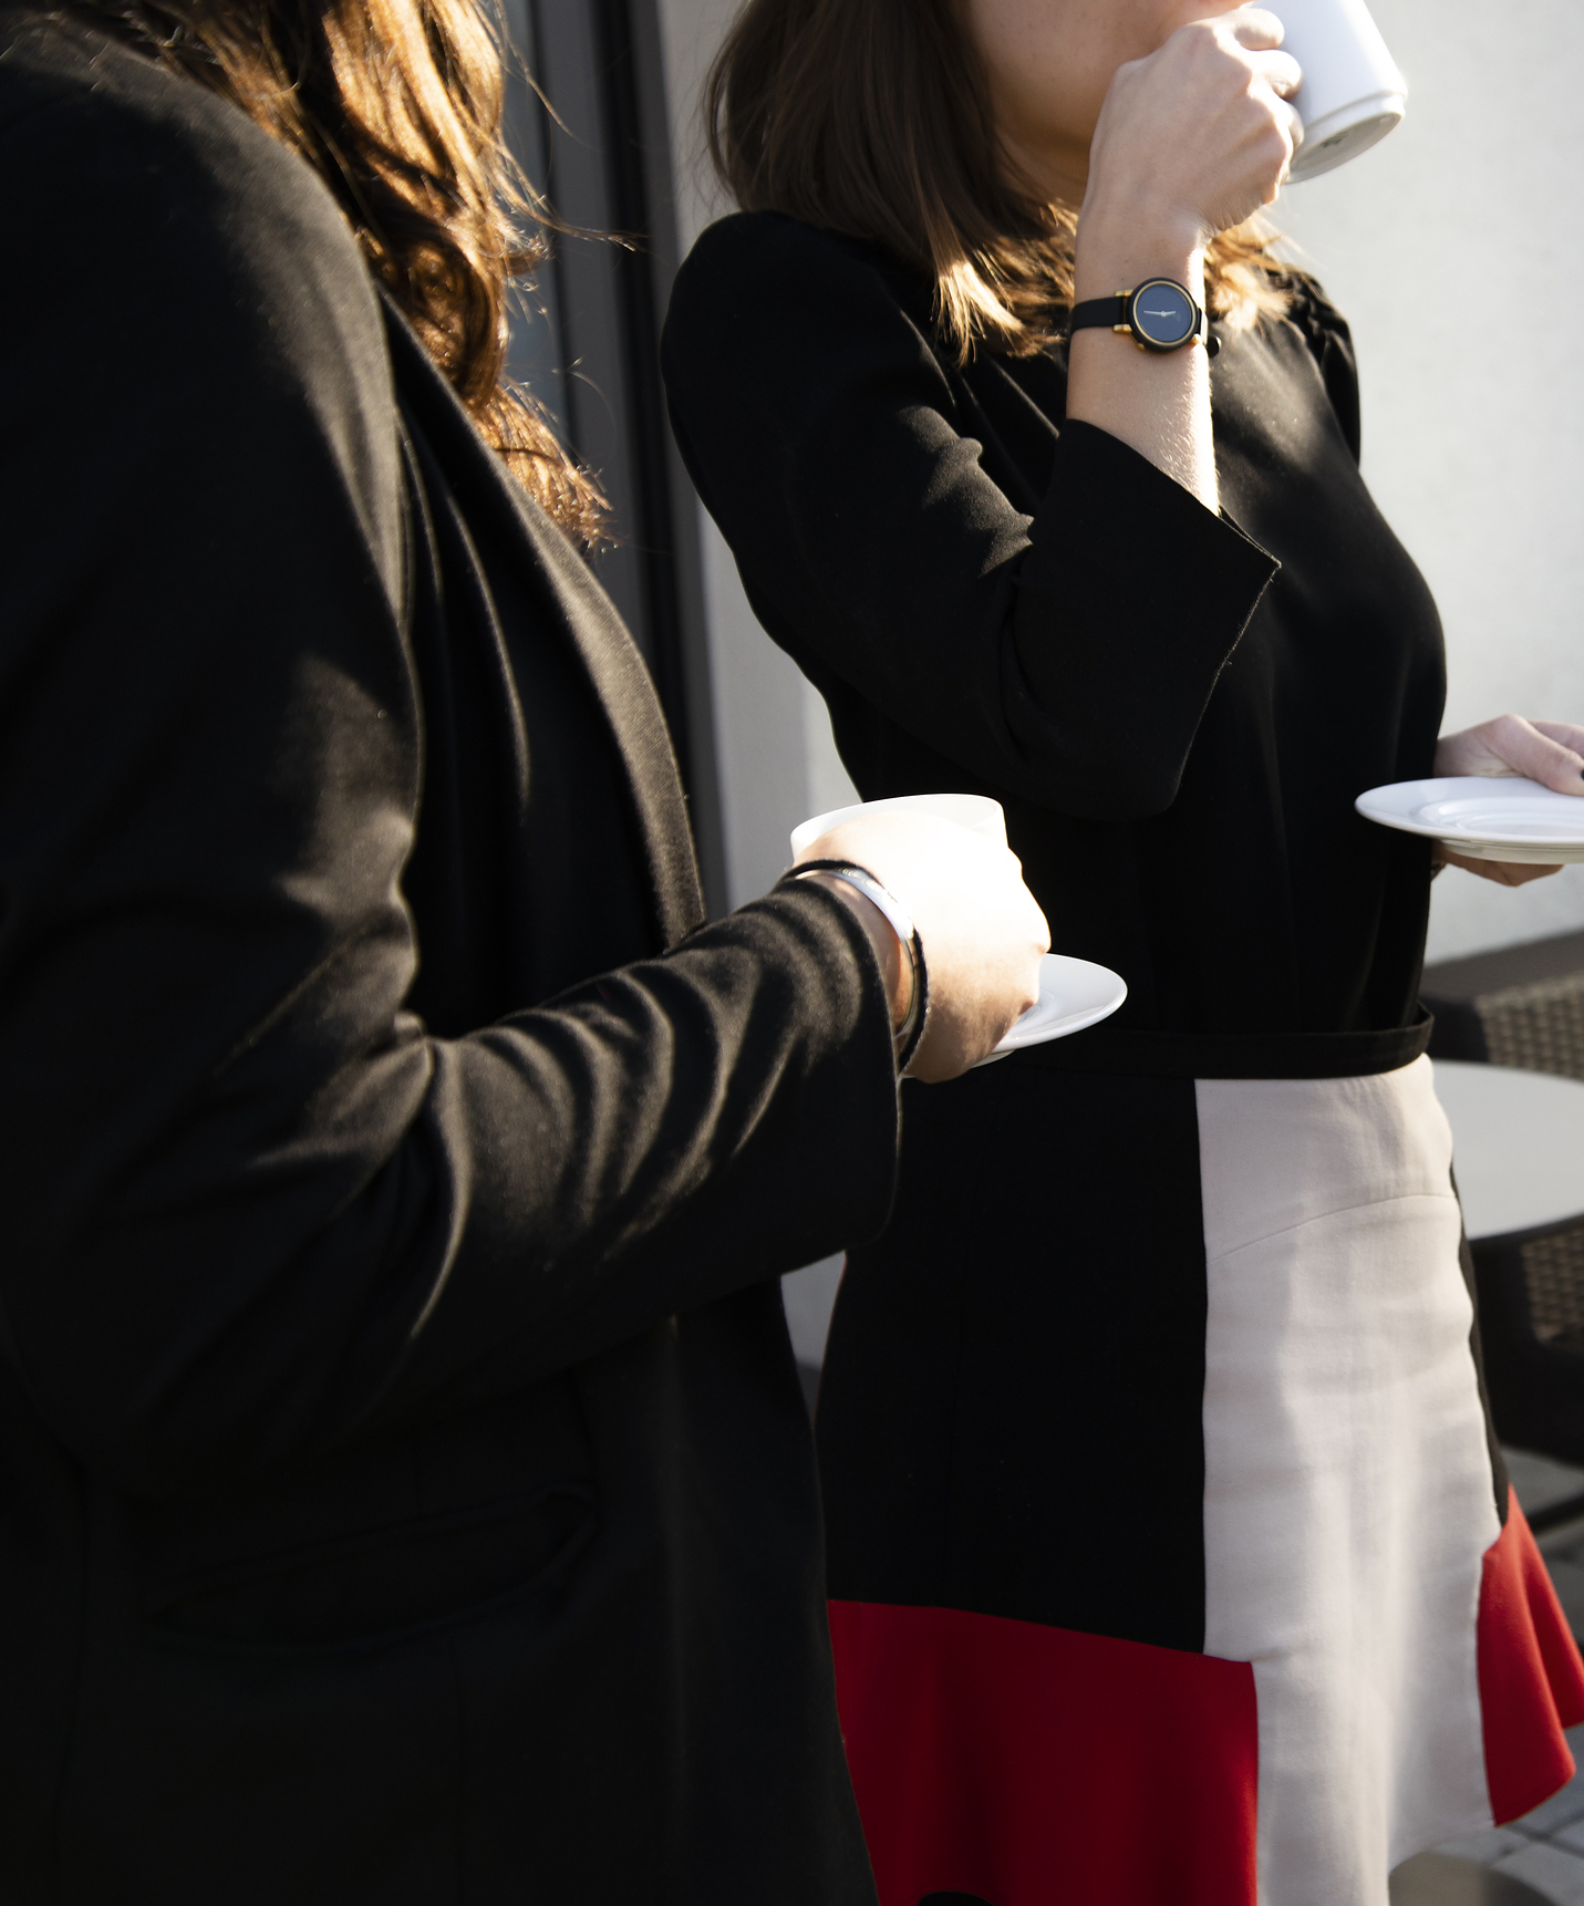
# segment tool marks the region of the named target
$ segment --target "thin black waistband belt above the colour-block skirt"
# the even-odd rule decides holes
[[[1001,1064],[1121,1079],[1363,1079],[1412,1065],[1433,1025],[1430,1012],[1378,1033],[1149,1033],[1102,1022]]]

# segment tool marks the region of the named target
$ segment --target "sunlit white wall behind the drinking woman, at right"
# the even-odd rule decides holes
[[[1409,114],[1277,215],[1353,324],[1365,476],[1441,604],[1449,726],[1584,720],[1584,6],[1371,6]],[[1451,871],[1430,955],[1578,926],[1584,867]]]

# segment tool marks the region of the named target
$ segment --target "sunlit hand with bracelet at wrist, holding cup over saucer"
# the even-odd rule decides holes
[[[999,842],[932,814],[892,808],[841,821],[797,856],[799,863],[808,860],[867,867],[919,930],[930,1016],[907,1067],[911,1077],[932,1085],[957,1079],[987,1058],[1039,999],[1039,963],[1050,951],[1050,928],[1024,886],[1022,863]],[[873,940],[869,917],[884,924],[879,909],[844,882],[829,884]],[[884,934],[896,961],[892,970],[902,974],[905,959],[898,957],[896,936],[890,926]],[[892,1003],[900,1020],[905,995],[892,991]]]

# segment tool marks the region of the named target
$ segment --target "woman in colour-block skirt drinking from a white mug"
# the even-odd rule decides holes
[[[1249,223],[1298,84],[1203,0],[751,0],[711,84],[700,494],[860,793],[997,797],[1128,982],[909,1086],[848,1256],[818,1435],[883,1906],[1386,1906],[1584,1719],[1481,1405],[1432,856],[1353,812],[1580,793],[1584,730],[1437,741],[1348,328]]]

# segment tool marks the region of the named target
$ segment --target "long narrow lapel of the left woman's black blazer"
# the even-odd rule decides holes
[[[511,480],[416,332],[381,288],[402,400],[412,404],[469,517],[522,558],[549,627],[564,633],[616,740],[644,842],[656,926],[675,945],[703,924],[686,797],[654,682],[610,597],[539,505]]]

